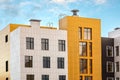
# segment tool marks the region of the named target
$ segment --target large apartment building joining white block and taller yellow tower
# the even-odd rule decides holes
[[[32,19],[0,31],[0,80],[101,80],[101,21],[72,12],[59,29]]]

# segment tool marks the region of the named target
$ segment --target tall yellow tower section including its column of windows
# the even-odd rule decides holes
[[[66,16],[59,25],[68,35],[68,80],[101,80],[100,19]]]

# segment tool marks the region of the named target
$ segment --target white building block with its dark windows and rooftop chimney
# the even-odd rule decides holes
[[[10,77],[6,80],[68,80],[67,31],[19,26],[10,33]]]

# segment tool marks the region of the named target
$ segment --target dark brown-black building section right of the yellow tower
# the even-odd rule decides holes
[[[102,80],[114,79],[114,38],[102,37]]]

